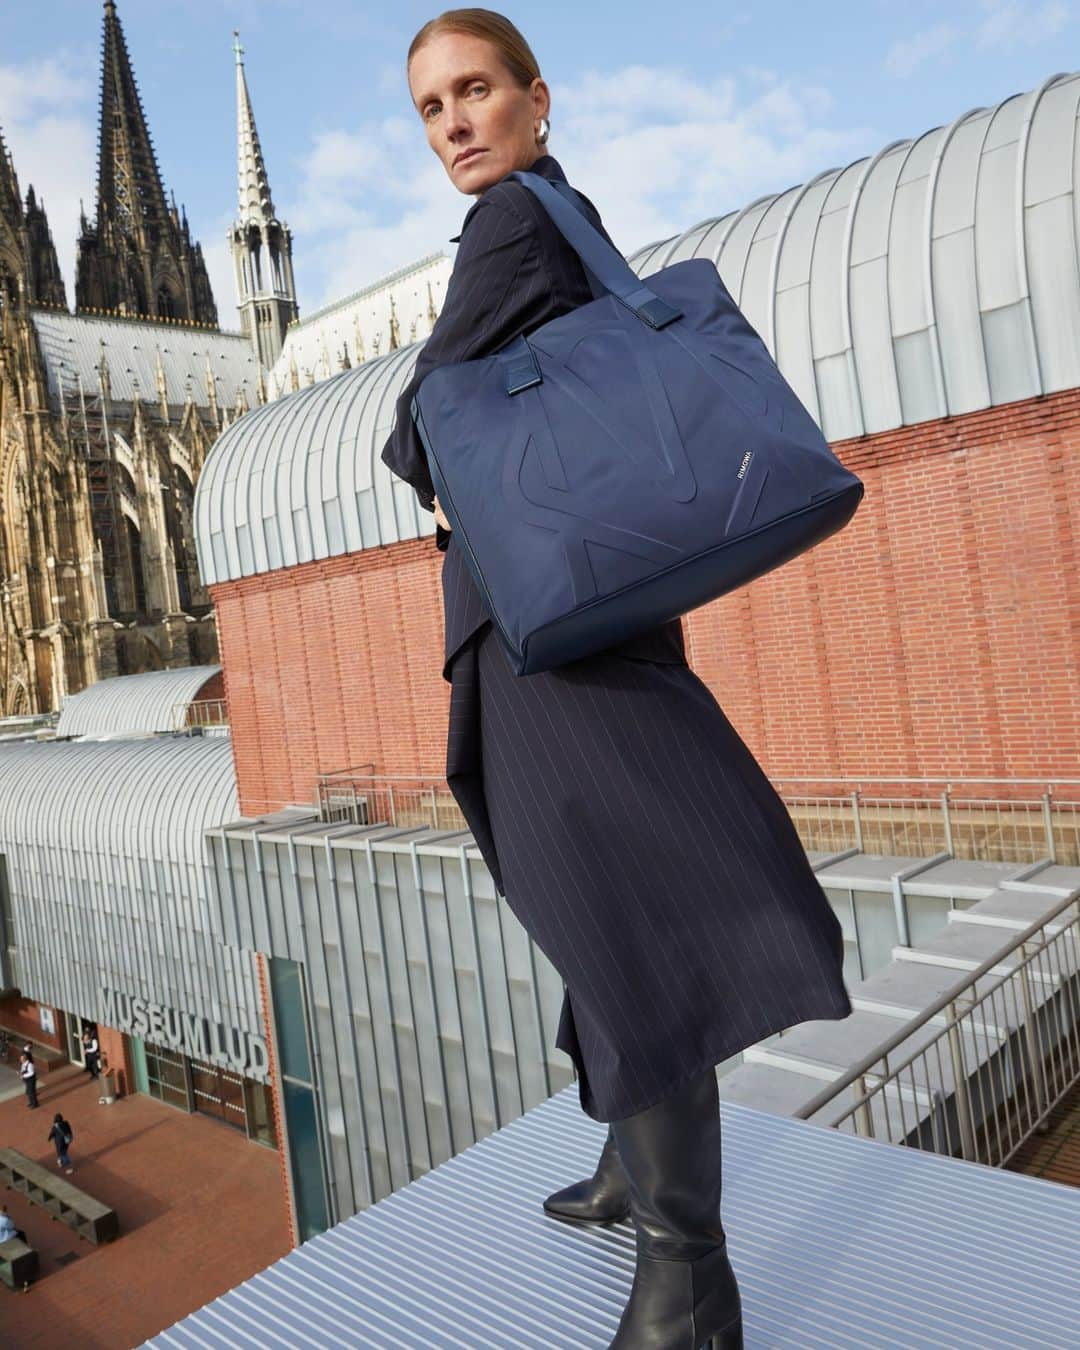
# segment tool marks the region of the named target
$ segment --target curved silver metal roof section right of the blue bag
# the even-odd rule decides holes
[[[1057,74],[630,258],[710,258],[830,440],[1080,385],[1076,120]]]

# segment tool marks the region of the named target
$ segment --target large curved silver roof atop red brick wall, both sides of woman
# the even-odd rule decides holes
[[[639,250],[711,258],[836,441],[1080,385],[1076,120],[1060,74]],[[223,582],[433,533],[379,460],[418,343],[248,413],[196,494]]]

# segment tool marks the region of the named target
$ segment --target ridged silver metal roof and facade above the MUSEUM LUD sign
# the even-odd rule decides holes
[[[224,738],[0,745],[0,852],[26,998],[109,1025],[103,990],[261,1034],[255,963],[213,922],[205,832],[236,817]]]

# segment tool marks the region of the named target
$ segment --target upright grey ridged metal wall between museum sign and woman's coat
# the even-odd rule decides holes
[[[225,941],[304,967],[332,1222],[570,1081],[563,983],[470,834],[289,811],[209,842]]]

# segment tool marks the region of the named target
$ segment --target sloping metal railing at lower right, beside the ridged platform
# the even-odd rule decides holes
[[[1077,895],[792,1114],[809,1119],[850,1095],[834,1129],[1006,1164],[1080,1081]],[[919,1048],[905,1053],[913,1037]]]

